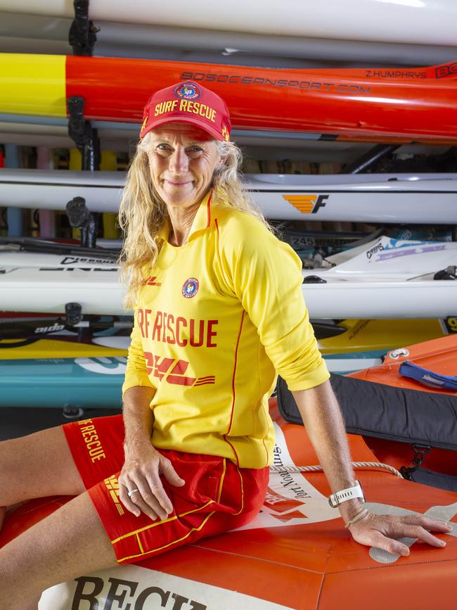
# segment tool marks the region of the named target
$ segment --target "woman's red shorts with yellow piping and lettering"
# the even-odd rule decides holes
[[[262,507],[268,467],[241,469],[224,457],[160,450],[186,484],[174,487],[161,477],[174,511],[164,521],[151,521],[143,513],[136,517],[119,499],[118,477],[124,464],[122,415],[62,427],[120,564],[137,563],[243,526]]]

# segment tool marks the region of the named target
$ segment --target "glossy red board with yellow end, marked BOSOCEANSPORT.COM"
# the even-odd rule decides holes
[[[195,80],[225,99],[238,129],[449,141],[457,139],[454,68],[287,70],[2,53],[0,113],[65,117],[67,99],[83,96],[87,119],[141,122],[152,91]]]

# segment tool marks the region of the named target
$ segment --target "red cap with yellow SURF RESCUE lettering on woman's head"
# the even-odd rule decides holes
[[[197,125],[214,138],[230,140],[230,115],[223,99],[191,80],[156,91],[143,112],[140,138],[151,129],[172,121]]]

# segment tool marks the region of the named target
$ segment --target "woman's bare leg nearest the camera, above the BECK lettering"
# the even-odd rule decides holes
[[[88,493],[0,549],[0,610],[24,610],[48,587],[117,565]]]

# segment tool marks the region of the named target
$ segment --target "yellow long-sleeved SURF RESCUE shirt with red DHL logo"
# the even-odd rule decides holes
[[[155,388],[157,448],[271,463],[277,374],[291,390],[328,379],[304,304],[302,264],[255,217],[202,201],[184,246],[160,234],[139,292],[123,391]]]

